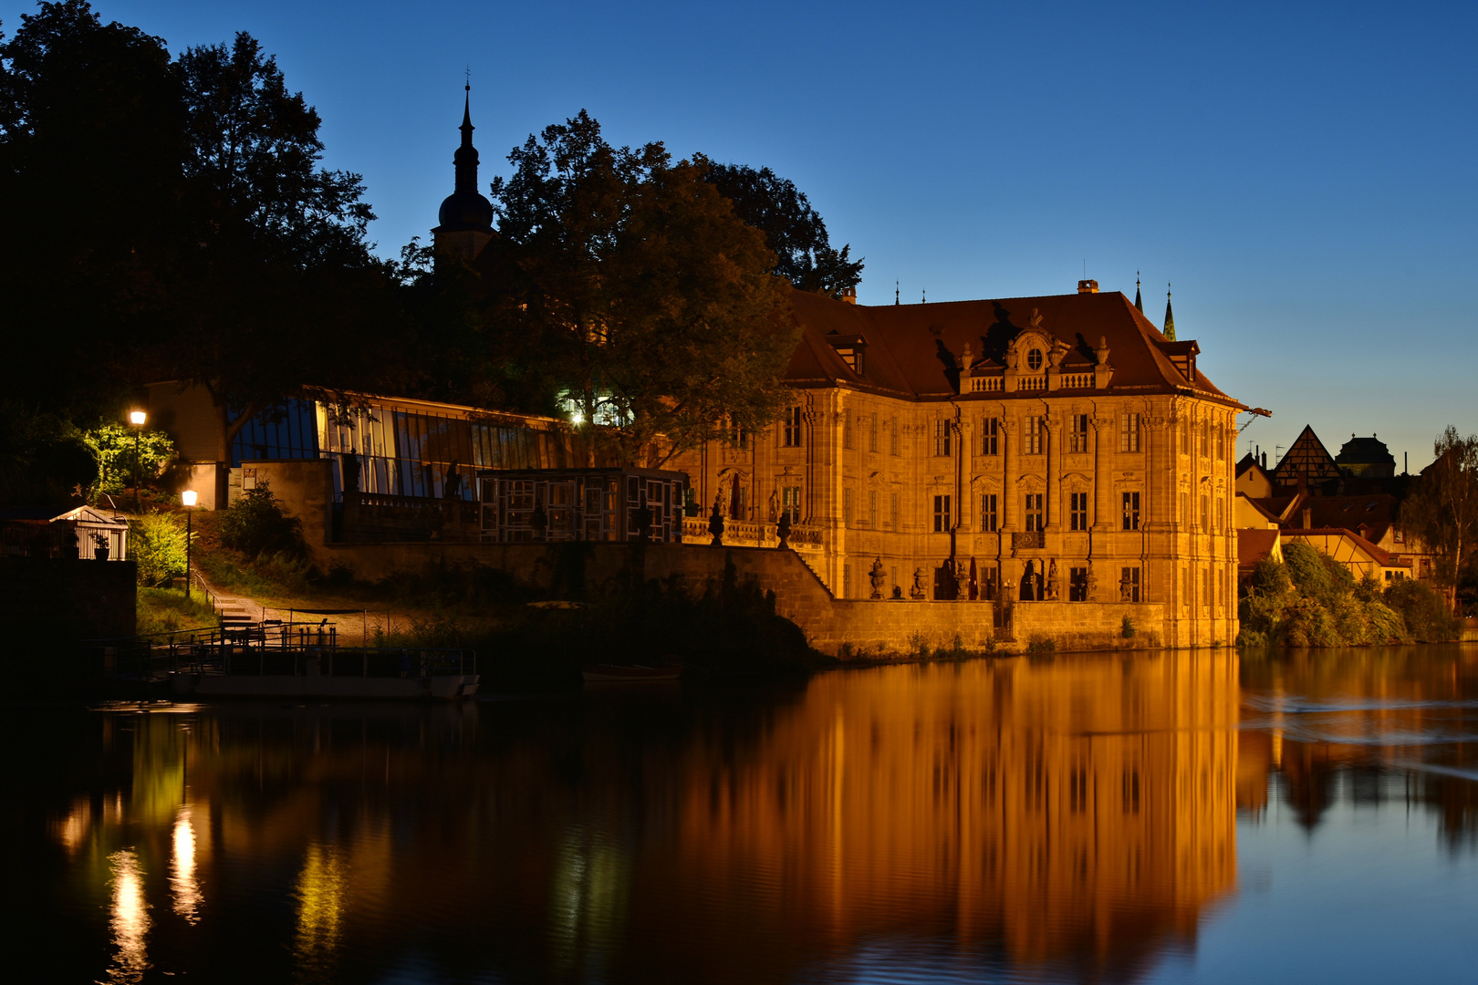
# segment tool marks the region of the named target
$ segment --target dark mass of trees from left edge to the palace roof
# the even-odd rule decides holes
[[[792,183],[610,148],[585,114],[489,188],[511,276],[479,284],[415,242],[383,260],[361,176],[322,167],[319,123],[244,32],[171,56],[65,0],[0,35],[0,502],[90,487],[81,431],[163,380],[210,391],[222,459],[234,421],[349,390],[606,402],[628,456],[658,431],[705,440],[714,394],[743,425],[773,415],[792,335],[767,282],[837,295],[860,278]]]

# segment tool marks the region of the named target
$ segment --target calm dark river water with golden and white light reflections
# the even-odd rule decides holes
[[[0,730],[27,981],[1478,982],[1478,648]]]

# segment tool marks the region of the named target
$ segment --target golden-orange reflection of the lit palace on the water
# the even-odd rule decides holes
[[[693,763],[678,868],[798,938],[1107,960],[1233,888],[1236,730],[1230,653],[823,675],[758,755]]]

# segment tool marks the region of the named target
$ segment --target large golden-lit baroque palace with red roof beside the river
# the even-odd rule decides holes
[[[1138,603],[1169,645],[1236,639],[1246,408],[1196,341],[1095,281],[881,307],[797,291],[794,312],[782,422],[670,465],[699,512],[761,540],[788,515],[838,598]]]

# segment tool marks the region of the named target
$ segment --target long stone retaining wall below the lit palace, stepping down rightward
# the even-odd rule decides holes
[[[579,551],[579,545],[544,543],[334,543],[321,548],[321,554],[325,564],[346,566],[365,580],[398,570],[420,572],[427,564],[482,564],[560,595],[573,589],[571,555],[562,551],[581,552],[582,589],[588,595],[600,595],[636,576],[637,552],[631,545],[582,546]],[[825,653],[841,653],[845,645],[859,654],[907,654],[956,642],[967,650],[986,650],[995,636],[989,603],[838,600],[792,551],[652,543],[641,551],[641,577],[675,577],[699,594],[723,579],[729,563],[740,577],[752,576],[763,589],[773,591],[776,610]],[[1163,619],[1157,604],[1020,603],[1012,611],[1015,644],[1005,644],[1007,648],[1021,648],[1033,636],[1052,639],[1058,650],[1150,645],[1153,636],[1147,631]],[[1140,628],[1135,641],[1122,636],[1126,614]]]

